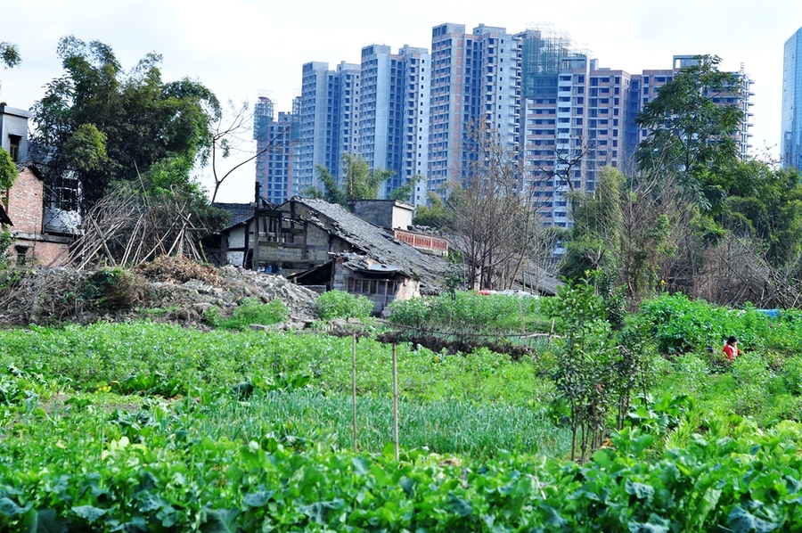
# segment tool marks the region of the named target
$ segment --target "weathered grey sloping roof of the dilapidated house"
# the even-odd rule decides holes
[[[403,274],[430,285],[430,289],[440,286],[447,269],[443,258],[425,254],[397,240],[393,234],[356,217],[339,204],[298,196],[291,201],[315,213],[316,217],[311,217],[309,222],[340,237],[377,263],[399,266]]]

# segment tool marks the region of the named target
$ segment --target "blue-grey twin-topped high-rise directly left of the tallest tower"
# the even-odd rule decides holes
[[[397,54],[386,45],[362,49],[356,152],[372,168],[395,172],[381,196],[425,174],[428,160],[430,55],[404,45]],[[422,184],[425,189],[425,184]],[[425,199],[413,195],[414,203]]]

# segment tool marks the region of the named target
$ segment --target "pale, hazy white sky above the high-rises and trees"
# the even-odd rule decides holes
[[[589,50],[600,67],[639,73],[670,69],[679,54],[716,54],[722,70],[755,80],[752,152],[776,158],[782,105],[782,51],[802,27],[800,0],[26,0],[0,8],[0,42],[17,45],[14,69],[0,69],[0,102],[29,109],[63,74],[59,39],[110,45],[123,69],[160,53],[162,78],[192,78],[221,102],[260,95],[291,111],[301,66],[358,63],[365,45],[430,48],[431,29],[480,23],[510,33],[548,27]],[[245,146],[255,150],[255,146]],[[247,157],[240,155],[238,157]],[[233,161],[234,162],[234,161]],[[225,169],[224,169],[225,171]],[[211,188],[209,169],[201,184]],[[217,201],[251,201],[254,165],[226,179]]]

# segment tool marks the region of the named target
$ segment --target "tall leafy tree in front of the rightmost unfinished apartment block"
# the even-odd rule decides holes
[[[676,176],[705,212],[718,213],[738,161],[733,135],[743,111],[733,102],[741,88],[731,72],[718,70],[719,57],[696,59],[635,117],[635,124],[649,131],[635,158],[644,172]]]

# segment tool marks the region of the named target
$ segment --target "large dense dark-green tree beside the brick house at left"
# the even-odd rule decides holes
[[[99,41],[63,37],[58,55],[65,73],[46,86],[32,110],[32,152],[52,188],[74,180],[85,209],[116,182],[155,180],[162,188],[198,193],[190,163],[208,157],[211,124],[220,116],[206,86],[188,78],[163,82],[157,53],[128,72]],[[164,173],[166,167],[172,171]],[[151,171],[151,179],[143,179]]]

